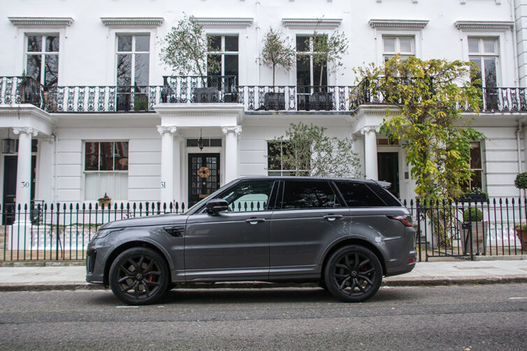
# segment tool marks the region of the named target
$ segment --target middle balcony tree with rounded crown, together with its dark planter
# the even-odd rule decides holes
[[[282,66],[286,71],[291,69],[295,61],[295,50],[288,45],[287,38],[283,37],[281,31],[270,28],[263,38],[261,56],[263,64],[273,68],[274,89],[276,66]],[[263,96],[263,99],[265,110],[285,110],[285,93],[270,91]]]

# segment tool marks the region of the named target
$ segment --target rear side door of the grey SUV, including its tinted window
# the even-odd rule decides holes
[[[284,180],[270,234],[269,278],[319,275],[322,253],[349,234],[350,212],[330,181]]]

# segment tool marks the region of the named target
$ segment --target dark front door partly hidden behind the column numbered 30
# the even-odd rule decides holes
[[[13,224],[15,219],[15,201],[17,195],[18,156],[3,156],[3,205],[2,224]],[[35,197],[36,156],[31,156],[31,200]]]

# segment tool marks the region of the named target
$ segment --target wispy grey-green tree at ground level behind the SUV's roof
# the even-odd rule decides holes
[[[325,134],[326,128],[302,122],[291,124],[285,135],[270,141],[269,164],[296,175],[361,177],[359,156],[349,138]],[[282,147],[283,151],[279,149]],[[273,149],[275,148],[275,149]]]

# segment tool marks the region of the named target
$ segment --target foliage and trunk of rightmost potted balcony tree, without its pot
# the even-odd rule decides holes
[[[309,38],[306,39],[306,45],[309,45]],[[312,45],[313,64],[320,66],[319,86],[321,86],[325,73],[324,66],[331,73],[344,66],[342,58],[347,54],[348,40],[343,32],[334,31],[328,36],[315,30],[312,37]]]

